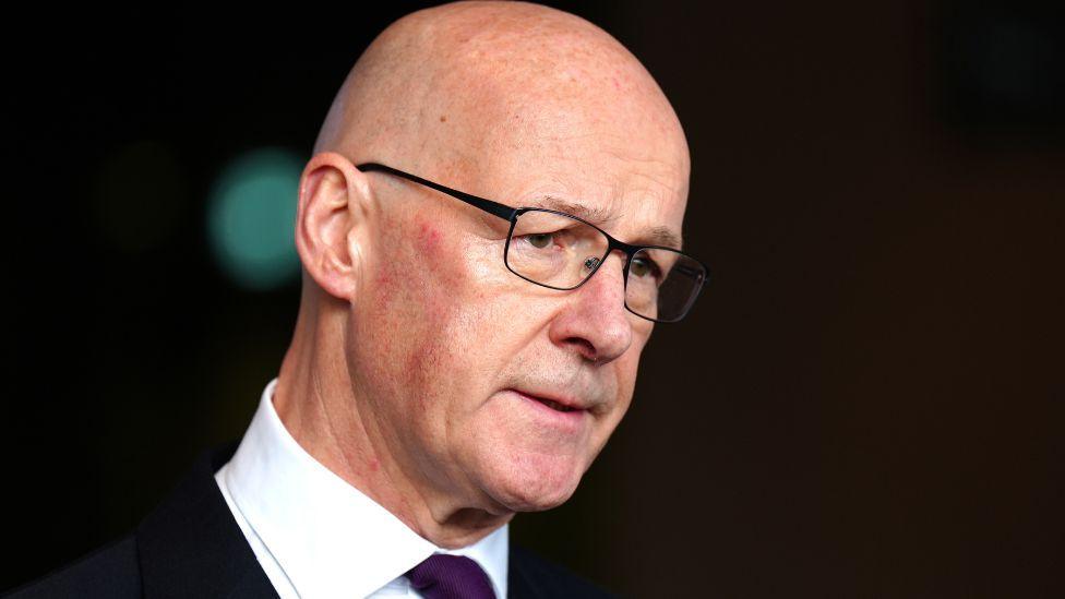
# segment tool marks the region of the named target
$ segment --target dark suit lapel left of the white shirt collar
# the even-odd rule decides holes
[[[237,526],[214,474],[237,444],[205,453],[137,527],[144,597],[277,597]]]

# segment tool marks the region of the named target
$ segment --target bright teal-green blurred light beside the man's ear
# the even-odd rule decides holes
[[[295,224],[303,165],[283,148],[249,152],[230,163],[211,194],[212,249],[237,285],[267,290],[299,274]]]

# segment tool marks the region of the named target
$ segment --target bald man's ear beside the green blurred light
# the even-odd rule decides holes
[[[300,177],[296,251],[319,287],[347,301],[362,272],[371,193],[366,173],[335,152],[315,154]]]

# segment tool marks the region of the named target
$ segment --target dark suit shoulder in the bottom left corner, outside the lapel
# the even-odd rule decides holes
[[[5,599],[141,597],[141,572],[133,536],[97,549],[44,578],[15,589]]]

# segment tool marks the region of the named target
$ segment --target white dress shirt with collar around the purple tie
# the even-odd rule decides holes
[[[506,597],[507,525],[447,550],[303,451],[274,409],[277,379],[215,480],[282,599],[421,597],[404,573],[433,553],[466,555]]]

